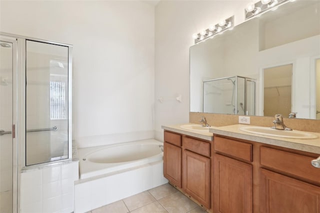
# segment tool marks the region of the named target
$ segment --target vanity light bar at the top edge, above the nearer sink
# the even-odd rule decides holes
[[[248,3],[244,8],[245,19],[256,16],[271,9],[276,9],[277,6],[287,2],[289,0],[260,0],[256,3]],[[293,0],[290,0],[293,1]]]

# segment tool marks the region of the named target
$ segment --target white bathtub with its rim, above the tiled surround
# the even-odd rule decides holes
[[[80,179],[162,160],[163,143],[154,139],[79,148]]]

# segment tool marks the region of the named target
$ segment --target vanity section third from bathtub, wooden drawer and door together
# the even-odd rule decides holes
[[[218,136],[213,141],[213,212],[252,212],[252,144]]]

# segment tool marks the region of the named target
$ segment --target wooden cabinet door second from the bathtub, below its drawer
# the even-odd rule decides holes
[[[185,192],[210,208],[210,158],[184,150],[182,171]]]

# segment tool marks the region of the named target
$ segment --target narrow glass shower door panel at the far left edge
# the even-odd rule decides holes
[[[12,212],[13,44],[0,41],[0,212]]]

